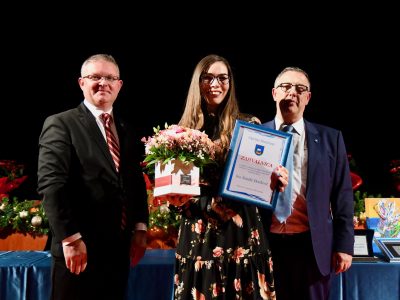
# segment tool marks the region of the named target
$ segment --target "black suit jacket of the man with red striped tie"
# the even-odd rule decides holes
[[[120,172],[115,170],[95,117],[81,103],[48,117],[39,138],[38,192],[52,232],[51,250],[62,255],[63,239],[80,232],[99,251],[130,237],[137,222],[148,223],[147,193],[140,168],[140,138],[114,120],[120,141]],[[121,208],[127,227],[121,232]]]

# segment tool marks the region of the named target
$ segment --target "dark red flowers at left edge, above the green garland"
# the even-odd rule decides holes
[[[19,164],[15,160],[0,160],[0,203],[28,178],[23,173],[23,164]]]

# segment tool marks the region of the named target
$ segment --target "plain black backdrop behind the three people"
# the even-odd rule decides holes
[[[143,136],[151,135],[153,126],[179,120],[195,65],[216,53],[233,67],[241,110],[262,121],[274,117],[276,75],[286,66],[307,71],[312,98],[305,118],[342,130],[363,191],[393,195],[389,163],[400,159],[400,49],[393,45],[398,24],[382,11],[376,13],[384,23],[376,22],[373,10],[361,20],[344,13],[324,24],[324,15],[307,24],[297,16],[287,28],[263,18],[248,24],[244,16],[225,16],[229,22],[224,16],[222,21],[200,18],[196,28],[189,26],[191,16],[176,24],[170,18],[130,21],[131,16],[124,23],[78,18],[79,24],[68,26],[57,15],[44,22],[24,19],[23,29],[17,29],[17,21],[8,23],[2,43],[0,159],[26,164],[23,191],[35,197],[41,126],[46,116],[83,100],[77,79],[92,54],[116,58],[124,80],[116,106]]]

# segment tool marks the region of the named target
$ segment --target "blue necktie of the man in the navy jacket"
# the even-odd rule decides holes
[[[293,126],[287,125],[281,129],[284,132],[292,132]],[[274,214],[280,223],[286,222],[286,219],[292,213],[292,185],[293,185],[293,139],[289,148],[289,153],[286,161],[286,169],[289,172],[289,183],[282,193],[279,193]]]

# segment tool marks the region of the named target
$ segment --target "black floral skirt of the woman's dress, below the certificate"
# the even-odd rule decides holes
[[[182,208],[175,299],[275,299],[271,253],[258,209],[204,190]]]

